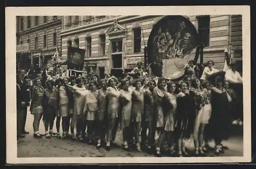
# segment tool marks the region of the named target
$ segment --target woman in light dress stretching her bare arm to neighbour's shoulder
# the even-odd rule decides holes
[[[84,121],[84,113],[83,113],[83,106],[86,103],[86,94],[88,90],[86,87],[82,84],[81,79],[76,80],[76,85],[73,86],[74,89],[74,112],[71,120],[71,135],[72,139],[76,139],[76,136],[74,134],[74,129],[76,126],[76,133],[78,136],[78,139],[80,141],[83,140],[82,138],[82,128],[84,127],[83,121]]]

